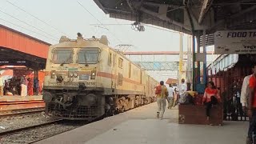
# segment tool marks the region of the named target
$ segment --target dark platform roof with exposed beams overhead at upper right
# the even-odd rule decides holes
[[[256,27],[255,0],[94,0],[110,18],[192,31],[247,30]]]

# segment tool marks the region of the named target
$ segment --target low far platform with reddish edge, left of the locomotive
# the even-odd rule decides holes
[[[0,112],[10,110],[24,110],[43,108],[46,104],[42,100],[42,95],[34,96],[0,96]]]

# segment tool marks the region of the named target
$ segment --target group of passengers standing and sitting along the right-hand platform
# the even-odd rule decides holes
[[[248,116],[250,120],[249,130],[246,138],[246,144],[256,143],[256,63],[251,66],[253,74],[243,78],[243,82],[239,79],[234,80],[229,87],[226,87],[220,96],[219,90],[214,86],[214,82],[208,82],[203,95],[196,91],[187,90],[185,80],[178,90],[174,90],[170,85],[166,87],[161,81],[159,86],[155,87],[157,94],[158,111],[157,118],[162,119],[166,109],[166,100],[168,108],[179,105],[205,105],[206,118],[209,121],[210,110],[213,106],[223,105],[224,119],[227,114],[237,120],[234,114],[240,116]],[[232,116],[233,115],[233,116]]]

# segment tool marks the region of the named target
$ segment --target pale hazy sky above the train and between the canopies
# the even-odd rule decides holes
[[[0,0],[0,23],[51,44],[58,43],[62,35],[76,38],[80,32],[84,38],[106,35],[112,47],[133,45],[127,51],[179,50],[177,32],[151,26],[145,26],[144,32],[132,30],[133,22],[110,18],[93,0]],[[99,23],[115,25],[95,25]],[[184,34],[184,50],[186,46],[187,35]]]

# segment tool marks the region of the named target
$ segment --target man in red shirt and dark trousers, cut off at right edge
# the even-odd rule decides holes
[[[252,76],[249,79],[250,95],[248,98],[247,110],[247,115],[250,118],[250,125],[248,130],[248,136],[246,139],[246,144],[253,143],[253,132],[255,131],[256,128],[256,63],[252,65],[252,70],[254,74],[252,74]]]

